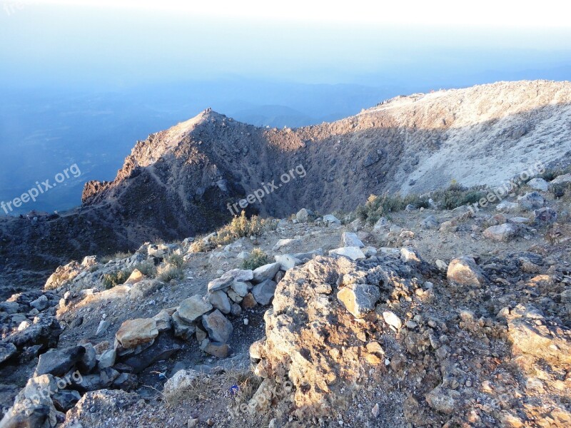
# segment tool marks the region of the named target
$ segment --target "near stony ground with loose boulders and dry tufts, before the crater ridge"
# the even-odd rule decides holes
[[[0,427],[567,427],[570,183],[59,267],[0,304]]]

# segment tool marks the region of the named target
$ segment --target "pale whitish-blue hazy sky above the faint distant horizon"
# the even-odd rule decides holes
[[[5,0],[0,86],[237,75],[363,83],[438,64],[557,66],[571,51],[562,1],[385,3]]]

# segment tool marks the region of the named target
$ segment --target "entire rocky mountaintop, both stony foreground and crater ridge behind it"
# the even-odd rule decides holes
[[[81,208],[2,220],[0,427],[571,426],[569,101],[205,111]]]

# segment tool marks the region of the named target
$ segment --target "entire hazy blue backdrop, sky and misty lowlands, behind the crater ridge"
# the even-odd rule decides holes
[[[570,12],[553,0],[0,0],[0,201],[77,163],[81,177],[21,213],[78,205],[135,141],[207,107],[304,126],[398,95],[571,80]]]

